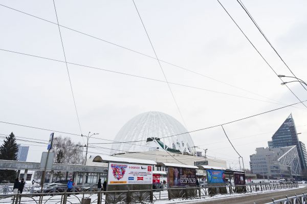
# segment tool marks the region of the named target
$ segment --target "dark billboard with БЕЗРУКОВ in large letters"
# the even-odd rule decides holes
[[[180,167],[168,167],[169,186],[196,186],[196,170]]]

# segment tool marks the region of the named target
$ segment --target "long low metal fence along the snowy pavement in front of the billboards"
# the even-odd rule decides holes
[[[25,194],[1,194],[0,203],[24,204],[24,203],[58,203],[58,204],[111,204],[111,203],[141,203],[155,200],[173,198],[202,198],[216,194],[250,193],[265,190],[297,188],[298,184],[266,184],[266,185],[238,185],[216,187],[182,187],[150,190],[127,191],[96,191],[96,192],[49,192],[49,193],[25,193]],[[274,202],[272,202],[274,203]],[[277,203],[277,202],[275,202]],[[284,202],[294,204],[294,202]],[[300,202],[296,202],[300,203]]]

